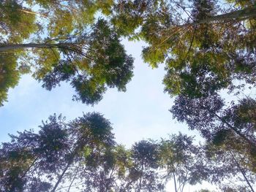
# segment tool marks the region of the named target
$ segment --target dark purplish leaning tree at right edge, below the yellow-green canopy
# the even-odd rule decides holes
[[[174,118],[187,122],[189,128],[199,130],[208,141],[218,134],[222,140],[235,134],[255,156],[254,103],[254,99],[248,98],[226,108],[219,95],[196,99],[178,96],[170,111]],[[232,139],[229,141],[232,142]]]

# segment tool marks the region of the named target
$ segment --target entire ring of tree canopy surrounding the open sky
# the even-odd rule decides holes
[[[38,133],[2,143],[1,191],[164,191],[170,180],[176,192],[202,181],[254,191],[255,0],[3,0],[0,11],[0,105],[26,73],[49,91],[69,82],[85,104],[107,88],[126,91],[129,38],[146,42],[151,67],[165,65],[173,118],[205,139],[178,134],[127,149],[99,113],[68,123],[52,115]]]

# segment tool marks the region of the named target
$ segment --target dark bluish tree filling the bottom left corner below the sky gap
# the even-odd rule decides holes
[[[33,131],[10,135],[11,142],[1,146],[1,191],[31,191],[37,186],[48,191],[51,184],[42,179],[56,174],[64,166],[64,154],[69,149],[67,130],[61,116],[50,116],[39,134]]]

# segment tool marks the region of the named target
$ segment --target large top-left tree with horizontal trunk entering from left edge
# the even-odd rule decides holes
[[[69,81],[77,92],[74,99],[86,104],[100,101],[108,87],[125,91],[132,77],[133,58],[126,54],[113,27],[94,18],[98,10],[107,14],[110,3],[1,2],[0,54],[4,60],[0,80],[4,88],[0,104],[7,100],[8,89],[17,85],[20,72],[31,72],[48,90]],[[34,6],[39,8],[32,10]],[[27,28],[19,28],[25,23]],[[12,70],[4,69],[9,59]],[[8,82],[11,74],[15,80]]]

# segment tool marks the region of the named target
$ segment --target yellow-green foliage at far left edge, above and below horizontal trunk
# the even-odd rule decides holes
[[[27,15],[18,10],[26,9],[20,1],[0,2],[0,43],[20,43],[37,31],[35,15]],[[0,46],[1,46],[0,45]],[[7,91],[18,84],[21,66],[17,66],[19,53],[0,53],[0,104],[7,100]],[[24,68],[23,68],[24,69]],[[26,71],[26,70],[25,70]]]

